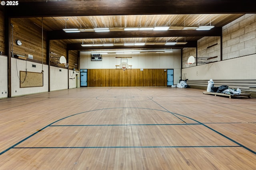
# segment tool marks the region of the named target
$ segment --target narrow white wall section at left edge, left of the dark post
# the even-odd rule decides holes
[[[8,97],[7,57],[0,55],[0,98]]]

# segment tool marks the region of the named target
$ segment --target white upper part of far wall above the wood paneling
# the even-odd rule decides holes
[[[173,51],[173,53],[103,54],[102,61],[91,61],[91,51],[81,51],[80,69],[115,69],[116,65],[121,63],[121,59],[116,57],[132,57],[127,61],[132,68],[174,69],[174,84],[177,84],[181,78],[181,50],[173,49]],[[122,59],[123,61],[125,60]]]

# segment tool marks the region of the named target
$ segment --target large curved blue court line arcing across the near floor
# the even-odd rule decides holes
[[[162,107],[162,106],[161,106],[161,107]],[[36,132],[33,133],[32,135],[30,135],[30,136],[26,137],[25,139],[23,139],[22,141],[20,141],[20,142],[14,144],[14,145],[12,145],[11,147],[9,147],[9,148],[6,149],[6,150],[0,152],[0,155],[4,154],[5,152],[7,152],[7,151],[10,150],[10,149],[13,149],[13,148],[16,147],[17,145],[19,145],[20,143],[26,141],[26,140],[29,139],[30,137],[36,135],[38,132],[42,131],[42,130],[45,129],[46,127],[49,127],[49,126],[51,126],[52,124],[54,124],[54,123],[56,123],[56,122],[58,122],[58,121],[61,121],[61,120],[63,120],[63,119],[66,119],[66,118],[68,118],[68,117],[72,117],[72,116],[74,116],[74,115],[79,115],[79,114],[82,114],[82,113],[88,113],[88,112],[91,112],[91,111],[98,111],[98,110],[105,110],[105,109],[124,109],[124,108],[125,108],[125,109],[127,109],[127,108],[129,108],[129,109],[150,109],[150,108],[142,108],[142,107],[112,107],[112,108],[104,108],[104,109],[95,109],[95,110],[90,110],[90,111],[84,111],[84,112],[76,113],[76,114],[73,114],[73,115],[69,115],[69,116],[63,117],[62,119],[56,120],[56,121],[50,123],[49,125],[43,127],[42,129],[36,131]],[[165,109],[164,107],[162,107],[162,108]],[[150,109],[150,110],[163,111],[163,112],[170,113],[170,114],[172,114],[172,115],[180,115],[180,114],[178,114],[178,113],[170,112],[170,111],[168,111],[167,109],[165,109],[165,110]],[[187,117],[187,116],[184,116],[184,115],[180,115],[180,116],[186,117],[186,118],[188,118],[188,119],[190,119],[190,120],[193,120],[193,121],[199,123],[200,125],[203,125],[204,127],[210,129],[211,131],[214,131],[215,133],[218,133],[218,134],[221,135],[222,137],[224,137],[224,138],[226,138],[226,139],[232,141],[233,143],[236,143],[236,145],[239,145],[240,147],[242,147],[242,148],[244,148],[244,149],[246,149],[246,150],[252,152],[253,154],[256,154],[255,151],[253,151],[253,150],[249,149],[248,147],[245,147],[244,145],[242,145],[242,144],[240,144],[240,143],[234,141],[233,139],[227,137],[226,135],[223,135],[222,133],[220,133],[220,132],[218,132],[218,131],[216,131],[216,130],[210,128],[210,127],[208,127],[207,125],[204,125],[203,123],[201,123],[201,122],[199,122],[199,121],[197,121],[197,120],[195,120],[195,119],[192,119],[192,118],[190,118],[190,117]]]

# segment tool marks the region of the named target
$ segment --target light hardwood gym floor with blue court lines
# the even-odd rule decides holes
[[[0,100],[0,170],[255,170],[256,98],[167,87]]]

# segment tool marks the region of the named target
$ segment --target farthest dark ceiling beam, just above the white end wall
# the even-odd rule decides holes
[[[197,41],[188,41],[187,44],[184,45],[142,45],[142,46],[101,46],[100,49],[159,49],[159,48],[172,48],[172,49],[182,49],[185,47],[196,47]],[[67,50],[99,50],[99,47],[82,47],[81,44],[67,44]]]

